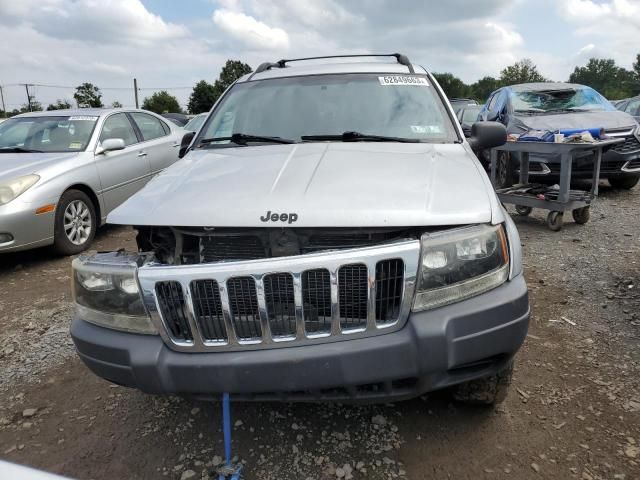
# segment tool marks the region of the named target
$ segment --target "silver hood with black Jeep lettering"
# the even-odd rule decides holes
[[[466,145],[304,143],[191,151],[107,221],[217,227],[460,225],[490,222],[496,205],[489,180]],[[287,220],[261,220],[267,212],[287,214]],[[291,213],[297,215],[292,224]]]

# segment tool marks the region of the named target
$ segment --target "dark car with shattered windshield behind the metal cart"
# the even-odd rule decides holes
[[[633,188],[640,180],[640,131],[638,123],[628,113],[616,110],[593,88],[571,83],[524,83],[503,87],[493,92],[480,112],[481,120],[499,121],[509,134],[519,135],[530,130],[557,131],[560,129],[602,128],[612,137],[624,142],[614,145],[602,156],[600,178],[609,180],[616,188]],[[480,158],[489,160],[488,152]],[[534,156],[532,156],[534,158]],[[541,157],[543,160],[545,157]],[[574,159],[572,179],[590,179],[593,154]],[[515,180],[516,162],[508,152],[500,152],[498,187],[506,187]],[[537,168],[537,169],[536,169]],[[559,179],[557,163],[532,164],[533,178]]]

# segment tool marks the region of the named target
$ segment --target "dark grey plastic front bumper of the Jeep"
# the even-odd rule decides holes
[[[185,353],[159,336],[75,318],[71,336],[98,376],[148,393],[241,400],[388,401],[490,375],[522,345],[529,324],[522,275],[477,297],[411,313],[393,333],[297,347]]]

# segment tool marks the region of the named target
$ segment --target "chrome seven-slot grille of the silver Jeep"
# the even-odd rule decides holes
[[[401,328],[417,240],[339,252],[138,270],[145,304],[175,350],[274,348]]]

